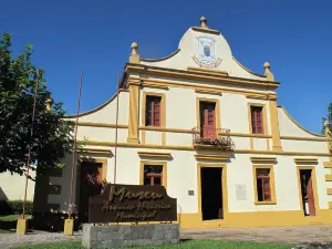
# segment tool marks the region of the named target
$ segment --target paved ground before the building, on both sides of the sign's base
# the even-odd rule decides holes
[[[183,239],[222,239],[232,241],[259,242],[323,242],[332,241],[332,225],[260,228],[205,228],[181,229]],[[58,241],[80,241],[81,232],[64,236],[60,232],[33,231],[25,236],[0,234],[0,248],[8,249],[21,245],[34,245]]]

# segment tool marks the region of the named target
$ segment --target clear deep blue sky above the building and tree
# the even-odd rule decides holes
[[[69,114],[76,110],[81,70],[81,111],[87,111],[114,94],[133,41],[142,58],[168,55],[201,15],[243,65],[262,73],[263,62],[270,62],[281,82],[278,104],[309,131],[320,132],[332,102],[330,0],[0,2],[0,32],[13,35],[15,53],[34,45],[33,62],[45,69],[55,101],[64,102]]]

